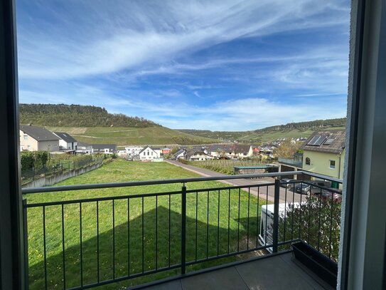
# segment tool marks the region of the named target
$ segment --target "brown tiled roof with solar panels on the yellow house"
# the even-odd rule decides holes
[[[309,145],[309,142],[315,136],[325,136],[326,140],[321,145]],[[327,142],[329,140],[329,142]],[[329,143],[329,145],[326,145]],[[345,130],[321,130],[314,132],[301,145],[300,149],[318,152],[327,152],[334,154],[341,154],[345,149]]]

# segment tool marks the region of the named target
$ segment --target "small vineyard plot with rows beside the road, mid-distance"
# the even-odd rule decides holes
[[[255,160],[205,160],[205,161],[185,161],[183,163],[188,165],[193,165],[196,167],[205,168],[208,170],[213,170],[216,172],[224,173],[227,175],[232,175],[234,173],[234,168],[237,166],[260,166],[264,165],[263,162]]]

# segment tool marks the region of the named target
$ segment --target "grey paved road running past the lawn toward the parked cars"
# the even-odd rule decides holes
[[[178,167],[182,167],[182,168],[189,170],[191,172],[195,172],[198,175],[201,175],[204,177],[227,176],[227,175],[224,175],[222,173],[215,172],[213,170],[195,167],[192,165],[186,165],[186,164],[183,164],[181,162],[174,161],[174,160],[167,160],[166,162],[169,162],[170,164],[176,165]],[[251,179],[242,178],[240,180],[218,180],[218,181],[226,183],[228,185],[235,185],[235,186],[245,185],[245,186],[247,186],[247,185],[264,185],[264,184],[273,183],[274,179],[271,177],[266,177],[266,178],[261,179],[261,180],[260,179],[251,180]],[[267,190],[268,190],[268,195],[267,195]],[[252,187],[250,192],[252,193],[252,195],[255,195],[255,196],[257,196],[259,194],[259,197],[262,198],[263,200],[265,200],[267,198],[267,200],[274,202],[274,186],[260,187],[259,193],[258,193],[257,187]],[[286,202],[300,202],[301,200],[302,201],[306,200],[305,195],[301,196],[297,193],[294,193],[294,191],[292,189],[286,190],[284,187],[280,187],[280,195],[279,196],[280,196],[280,202],[281,203],[285,202],[285,200],[286,200]]]

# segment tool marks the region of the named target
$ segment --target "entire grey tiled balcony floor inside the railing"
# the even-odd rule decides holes
[[[146,289],[226,290],[226,289],[333,289],[286,252],[273,257],[248,261],[203,274],[188,276]]]

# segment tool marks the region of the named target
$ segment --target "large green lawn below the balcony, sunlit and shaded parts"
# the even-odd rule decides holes
[[[98,170],[73,177],[58,185],[165,180],[195,176],[197,175],[192,172],[166,162],[141,163],[115,160]],[[220,182],[197,182],[188,183],[186,186],[188,190],[192,190],[224,187],[225,185]],[[176,190],[181,190],[181,184],[51,192],[44,195],[28,196],[28,204]],[[265,204],[265,200],[257,200],[248,192],[239,190],[188,193],[186,209],[187,261],[225,254],[227,251],[235,252],[237,249],[246,249],[247,244],[249,244],[248,247],[254,247],[259,232],[258,214],[262,204]],[[98,242],[101,281],[111,279],[113,275],[118,277],[127,273],[136,274],[143,270],[149,271],[156,267],[168,266],[169,263],[171,265],[178,264],[181,261],[181,195],[172,195],[170,200],[168,195],[165,195],[144,197],[143,200],[141,197],[132,198],[129,201],[126,198],[114,202],[107,200],[98,204],[96,202],[82,202],[81,206],[79,203],[65,204],[63,208],[61,205],[53,205],[45,207],[44,214],[45,219],[43,220],[42,207],[28,209],[30,289],[44,289],[45,266],[47,268],[48,289],[63,289],[63,266],[65,266],[66,273],[66,288],[80,286],[80,269],[82,269],[85,284],[97,281]],[[197,223],[195,222],[196,216]],[[81,226],[80,217],[82,217]],[[97,220],[99,222],[98,237]],[[43,239],[43,222],[45,222],[45,241]],[[144,232],[142,232],[142,228]],[[195,235],[196,228],[197,236]],[[81,234],[80,229],[82,229]],[[64,258],[62,237],[65,239]],[[82,239],[82,243],[80,239]],[[249,243],[247,243],[247,239],[249,239]],[[43,263],[44,242],[46,265]],[[80,247],[82,247],[82,257],[80,257]],[[115,255],[112,255],[112,249],[115,250]],[[142,253],[144,253],[143,256]],[[82,264],[80,259],[82,259]],[[142,263],[142,259],[144,263]],[[236,258],[232,257],[225,260],[232,261],[233,259]],[[220,261],[205,262],[190,266],[188,270],[200,269],[218,263]],[[176,269],[152,274],[101,286],[98,289],[120,289],[152,279],[160,279],[167,275],[176,274],[178,271]]]

